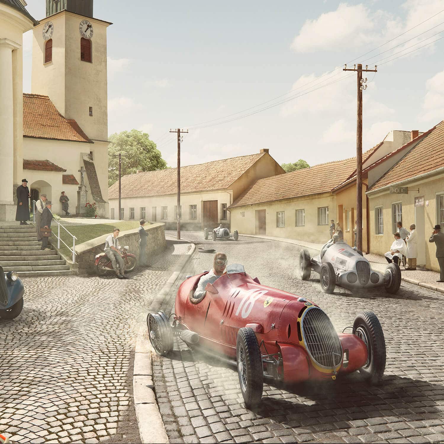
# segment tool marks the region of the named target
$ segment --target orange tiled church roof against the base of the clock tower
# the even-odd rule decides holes
[[[93,143],[74,119],[65,119],[47,95],[23,95],[23,136]]]

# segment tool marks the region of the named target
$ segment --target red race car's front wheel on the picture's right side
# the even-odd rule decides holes
[[[386,359],[381,323],[375,313],[363,311],[355,319],[353,331],[365,342],[368,350],[368,360],[359,371],[369,384],[377,384],[384,375]]]

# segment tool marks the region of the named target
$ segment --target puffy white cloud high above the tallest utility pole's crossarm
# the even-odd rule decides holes
[[[341,3],[336,11],[306,20],[291,48],[296,52],[356,48],[375,40],[371,32],[378,19],[381,14],[370,12],[363,4]]]

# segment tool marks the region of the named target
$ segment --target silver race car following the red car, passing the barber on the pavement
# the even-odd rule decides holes
[[[387,293],[396,293],[401,285],[401,270],[397,264],[389,264],[384,274],[372,271],[361,251],[343,241],[327,242],[314,258],[307,250],[301,250],[299,270],[303,281],[310,278],[311,270],[319,273],[325,293],[333,293],[335,285],[350,290],[384,286]]]

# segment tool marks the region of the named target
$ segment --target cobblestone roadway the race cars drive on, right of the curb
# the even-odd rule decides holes
[[[265,285],[313,299],[338,331],[353,325],[361,310],[374,311],[387,345],[381,385],[365,385],[359,373],[333,382],[297,386],[264,384],[262,405],[244,408],[236,369],[199,353],[182,341],[168,357],[155,357],[153,371],[160,412],[170,442],[334,442],[438,443],[444,440],[443,295],[402,282],[396,295],[382,290],[351,294],[321,291],[312,272],[297,274],[300,247],[240,237],[204,241],[202,234],[182,233],[216,251],[229,263],[241,263]],[[201,245],[197,245],[201,246]],[[315,253],[310,252],[310,253]],[[212,266],[212,254],[196,253],[176,282]]]

